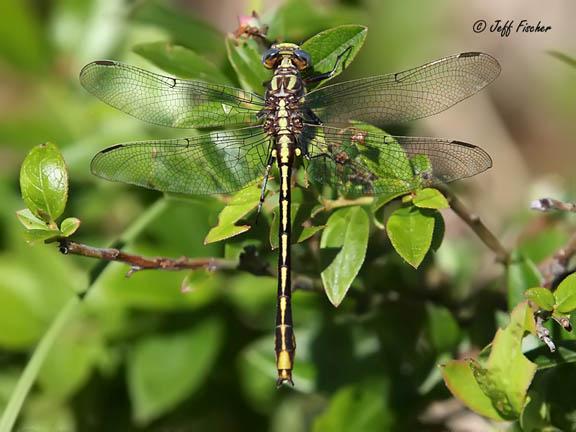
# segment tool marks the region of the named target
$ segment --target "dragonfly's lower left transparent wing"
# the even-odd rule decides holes
[[[192,138],[117,144],[92,159],[92,173],[162,192],[231,193],[264,173],[270,139],[261,127]]]

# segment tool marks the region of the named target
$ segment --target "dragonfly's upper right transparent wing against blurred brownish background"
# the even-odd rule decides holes
[[[469,52],[389,75],[346,81],[310,92],[305,106],[324,124],[375,125],[427,117],[472,96],[500,73],[488,54]]]

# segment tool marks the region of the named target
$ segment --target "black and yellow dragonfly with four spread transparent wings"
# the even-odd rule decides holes
[[[296,339],[291,306],[291,177],[346,195],[410,193],[434,182],[470,177],[492,166],[480,147],[442,138],[391,136],[370,125],[440,113],[472,96],[500,72],[497,60],[465,52],[408,69],[317,86],[332,70],[311,75],[299,45],[276,43],[262,56],[271,80],[263,95],[228,85],[181,80],[118,61],[80,73],[85,89],[138,119],[204,129],[186,138],[116,144],[99,152],[91,171],[107,180],[166,193],[230,194],[261,182],[258,211],[273,165],[279,173],[278,292],[275,355],[278,386],[294,385]],[[219,129],[216,129],[219,128]]]

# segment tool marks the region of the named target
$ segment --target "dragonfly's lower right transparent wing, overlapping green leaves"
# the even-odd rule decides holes
[[[376,128],[306,126],[309,177],[344,195],[410,192],[479,174],[492,166],[488,153],[461,141],[391,136]]]

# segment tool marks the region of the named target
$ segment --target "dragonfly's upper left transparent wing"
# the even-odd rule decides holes
[[[264,100],[244,90],[185,81],[115,61],[96,61],[80,72],[86,90],[141,120],[176,128],[258,122]]]

